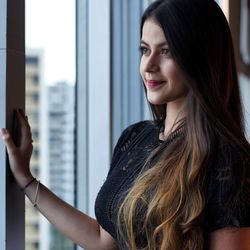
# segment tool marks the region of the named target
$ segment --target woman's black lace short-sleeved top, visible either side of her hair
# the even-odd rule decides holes
[[[129,126],[114,149],[111,168],[98,193],[95,213],[99,224],[117,240],[117,208],[133,184],[150,152],[158,147],[159,127],[150,121]],[[178,130],[165,143],[182,136]],[[204,231],[224,227],[250,227],[250,160],[234,147],[220,145],[205,187]],[[242,166],[246,166],[242,181]],[[138,222],[139,223],[139,222]],[[145,243],[145,242],[144,242]]]

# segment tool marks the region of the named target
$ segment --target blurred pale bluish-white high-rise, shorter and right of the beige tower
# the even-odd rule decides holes
[[[74,205],[75,87],[59,82],[48,87],[49,186],[61,199]],[[72,241],[50,227],[50,250],[73,250]]]

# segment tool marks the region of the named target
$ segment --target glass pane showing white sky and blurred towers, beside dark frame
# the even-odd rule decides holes
[[[31,169],[75,205],[75,1],[26,0],[26,112]],[[73,250],[26,200],[26,250]]]

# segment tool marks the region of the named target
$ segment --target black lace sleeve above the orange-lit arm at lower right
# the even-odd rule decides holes
[[[205,218],[208,231],[250,227],[249,168],[245,153],[222,147],[209,177]]]

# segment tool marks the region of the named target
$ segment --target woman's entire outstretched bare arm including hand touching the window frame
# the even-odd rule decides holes
[[[16,147],[6,129],[1,129],[0,134],[8,151],[13,175],[19,186],[24,187],[33,178],[29,169],[33,149],[32,135],[24,113],[18,111],[17,116],[20,122],[20,145]],[[33,181],[24,190],[33,204],[35,202],[37,185],[37,181]],[[41,184],[39,185],[36,203],[39,211],[58,230],[81,247],[93,250],[118,249],[114,239],[100,227],[95,219],[62,201]]]

